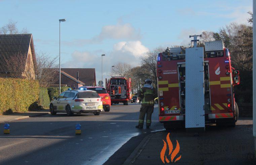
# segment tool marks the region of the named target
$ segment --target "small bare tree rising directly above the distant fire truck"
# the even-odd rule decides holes
[[[115,67],[113,67],[113,76],[124,76],[126,78],[129,78],[131,68],[132,65],[125,62],[119,62],[115,64]]]

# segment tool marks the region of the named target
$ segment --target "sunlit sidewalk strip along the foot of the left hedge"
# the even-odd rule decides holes
[[[29,111],[24,113],[12,113],[9,115],[0,115],[0,123],[19,120],[19,119],[25,119],[25,118],[34,117],[34,116],[40,116],[48,113],[49,113],[48,109],[43,109],[43,110]]]

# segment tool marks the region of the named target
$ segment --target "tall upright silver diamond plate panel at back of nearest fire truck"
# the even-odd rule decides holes
[[[186,128],[205,127],[204,48],[186,49]]]

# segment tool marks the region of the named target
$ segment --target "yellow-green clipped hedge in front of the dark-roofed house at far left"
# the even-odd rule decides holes
[[[27,112],[38,100],[39,84],[35,80],[0,78],[0,114]]]

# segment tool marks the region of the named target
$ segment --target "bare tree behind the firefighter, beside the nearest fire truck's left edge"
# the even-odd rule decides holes
[[[158,53],[161,53],[164,51],[164,48],[158,47],[153,49],[152,51],[147,52],[143,57],[141,57],[141,66],[142,69],[141,72],[147,78],[150,78],[152,80],[152,83],[155,85],[157,84],[157,76],[156,76],[156,64],[157,64],[157,56]]]

